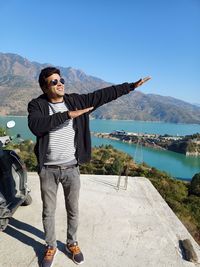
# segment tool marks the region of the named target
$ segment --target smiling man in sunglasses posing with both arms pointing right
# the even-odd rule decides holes
[[[47,244],[42,267],[50,267],[56,254],[55,209],[58,184],[64,190],[67,212],[66,251],[76,264],[84,261],[77,242],[79,164],[91,157],[89,114],[96,108],[148,81],[113,85],[89,94],[66,94],[60,70],[43,69],[39,85],[43,94],[28,104],[28,125],[37,137],[35,154],[38,160],[43,226]]]

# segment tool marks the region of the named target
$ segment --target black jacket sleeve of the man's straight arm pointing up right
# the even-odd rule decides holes
[[[126,95],[134,89],[134,83],[123,83],[99,89],[89,94],[82,94],[79,95],[79,97],[81,102],[84,103],[83,106],[94,107],[92,110],[94,111],[98,107],[115,100],[122,95]]]

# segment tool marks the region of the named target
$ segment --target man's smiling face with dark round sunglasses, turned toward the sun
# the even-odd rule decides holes
[[[57,73],[46,78],[47,85],[44,93],[47,94],[50,100],[60,101],[63,99],[65,87],[62,82],[63,79]]]

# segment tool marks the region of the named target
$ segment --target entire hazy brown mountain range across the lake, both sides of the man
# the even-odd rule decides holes
[[[26,115],[27,103],[41,94],[40,70],[52,64],[31,62],[16,54],[0,53],[0,115]],[[71,67],[60,67],[66,91],[88,93],[110,83]],[[102,106],[93,114],[101,119],[129,119],[175,123],[200,123],[200,107],[139,90]]]

